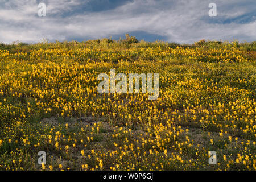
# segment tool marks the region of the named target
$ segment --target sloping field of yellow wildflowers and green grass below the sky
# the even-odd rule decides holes
[[[255,42],[0,44],[0,170],[255,170],[255,60]],[[159,73],[158,99],[98,93],[110,69]]]

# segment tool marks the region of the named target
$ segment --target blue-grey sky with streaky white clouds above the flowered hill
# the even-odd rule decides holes
[[[45,3],[46,16],[39,16]],[[209,16],[210,3],[217,16]],[[40,11],[42,12],[42,11]],[[0,0],[0,43],[256,40],[256,0]]]

